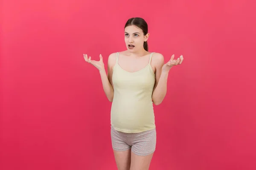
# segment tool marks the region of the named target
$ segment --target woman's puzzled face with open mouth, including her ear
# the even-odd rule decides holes
[[[149,34],[143,35],[143,31],[136,26],[127,26],[125,28],[125,44],[129,51],[140,51],[143,43],[148,40]]]

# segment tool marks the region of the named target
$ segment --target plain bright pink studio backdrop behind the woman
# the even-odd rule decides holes
[[[150,170],[255,170],[255,5],[232,0],[2,0],[0,170],[116,170],[99,71],[148,23],[149,51],[184,57],[155,106]],[[254,20],[254,21],[253,21]]]

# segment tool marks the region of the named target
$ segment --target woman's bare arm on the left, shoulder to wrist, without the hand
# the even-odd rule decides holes
[[[108,74],[104,69],[99,70],[100,77],[102,79],[102,86],[110,102],[113,101],[114,90],[113,90],[113,82],[112,82],[112,74],[113,74],[113,66],[115,65],[115,53],[110,54],[108,57]]]

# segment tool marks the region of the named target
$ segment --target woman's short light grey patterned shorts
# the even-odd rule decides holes
[[[111,141],[113,150],[131,149],[136,155],[147,156],[156,149],[157,133],[155,128],[140,133],[124,133],[111,126]]]

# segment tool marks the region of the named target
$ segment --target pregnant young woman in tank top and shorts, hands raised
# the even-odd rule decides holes
[[[183,56],[164,64],[163,55],[148,52],[148,25],[143,18],[125,24],[126,51],[110,54],[108,74],[102,55],[99,61],[84,54],[86,62],[99,69],[111,107],[111,141],[118,170],[148,170],[156,147],[153,103],[166,96],[167,78]]]

